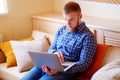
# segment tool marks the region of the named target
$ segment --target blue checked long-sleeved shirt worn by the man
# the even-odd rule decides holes
[[[48,52],[61,51],[65,61],[76,62],[66,73],[77,73],[85,71],[92,64],[96,44],[93,33],[82,22],[75,32],[69,32],[66,26],[62,26]]]

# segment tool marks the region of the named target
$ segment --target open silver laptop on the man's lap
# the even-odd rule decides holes
[[[28,52],[34,66],[41,68],[42,65],[48,66],[50,69],[55,69],[60,72],[67,71],[75,62],[63,62],[61,63],[56,54],[50,54],[46,52]]]

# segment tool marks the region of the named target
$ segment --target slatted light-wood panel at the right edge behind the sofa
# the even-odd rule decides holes
[[[104,31],[104,44],[120,47],[120,32]]]

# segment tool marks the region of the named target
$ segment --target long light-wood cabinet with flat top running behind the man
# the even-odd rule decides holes
[[[55,34],[57,29],[64,25],[62,13],[43,13],[31,16],[33,29]],[[120,20],[111,20],[83,16],[87,27],[95,34],[97,42],[110,46],[120,47]]]

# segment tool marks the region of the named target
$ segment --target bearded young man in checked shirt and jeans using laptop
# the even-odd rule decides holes
[[[58,55],[61,62],[71,61],[76,64],[66,72],[34,67],[21,80],[75,80],[77,73],[84,72],[93,61],[96,52],[96,39],[93,33],[81,21],[79,4],[68,2],[63,9],[66,25],[56,33],[49,48],[49,53]]]

